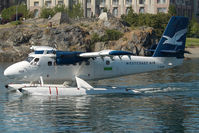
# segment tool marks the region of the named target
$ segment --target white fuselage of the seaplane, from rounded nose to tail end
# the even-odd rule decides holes
[[[22,81],[36,81],[43,77],[48,80],[84,80],[113,78],[148,71],[167,69],[183,62],[175,57],[142,57],[142,56],[105,56],[90,58],[88,61],[70,65],[57,65],[55,55],[29,55],[39,58],[38,62],[22,61],[8,67],[4,75],[21,79]]]

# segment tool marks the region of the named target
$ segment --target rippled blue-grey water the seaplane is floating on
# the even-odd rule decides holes
[[[171,132],[199,131],[199,59],[180,67],[99,81],[131,86],[138,95],[23,96],[8,92],[0,64],[0,131]]]

